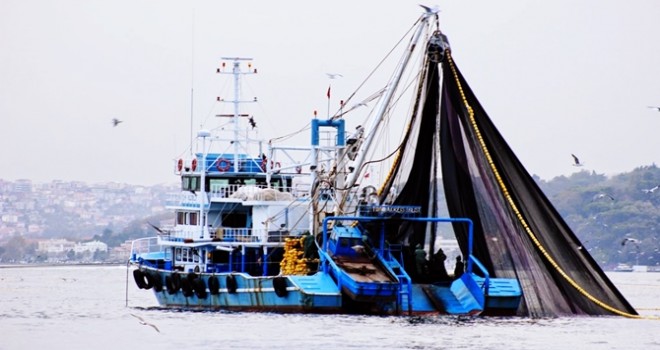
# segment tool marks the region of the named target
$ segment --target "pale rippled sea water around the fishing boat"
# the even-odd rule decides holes
[[[659,349],[660,273],[609,276],[648,318],[172,311],[126,266],[6,267],[0,349]]]

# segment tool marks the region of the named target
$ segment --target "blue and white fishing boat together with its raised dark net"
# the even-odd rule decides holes
[[[634,314],[588,252],[566,251],[579,241],[489,124],[437,10],[425,8],[401,51],[385,87],[355,102],[375,103],[367,124],[351,119],[354,93],[310,118],[302,147],[246,136],[254,120],[239,87],[252,67],[226,58],[231,69],[218,72],[233,77],[234,97],[222,101],[233,113],[216,130],[229,136],[201,130],[198,151],[176,160],[174,223],[132,244],[137,286],[181,309]],[[412,107],[389,149],[378,135],[404,96]],[[375,164],[385,169],[377,180]],[[438,243],[447,232],[465,262],[451,274]]]

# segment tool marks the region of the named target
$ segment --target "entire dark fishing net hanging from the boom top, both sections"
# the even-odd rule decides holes
[[[427,47],[412,117],[381,202],[395,191],[393,204],[436,216],[441,168],[450,216],[475,224],[473,255],[491,276],[520,281],[519,315],[636,315],[516,158],[451,56],[438,55],[437,48]],[[403,243],[406,266],[414,266],[414,247],[431,242],[433,251],[433,232],[403,222],[387,227],[387,239]],[[467,228],[456,224],[454,233],[467,256]]]

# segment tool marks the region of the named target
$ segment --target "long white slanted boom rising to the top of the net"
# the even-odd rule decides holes
[[[381,126],[381,123],[383,122],[385,113],[388,112],[390,102],[392,101],[392,98],[394,97],[394,93],[396,92],[396,89],[399,85],[399,82],[401,81],[401,77],[403,76],[403,73],[406,70],[406,67],[408,66],[408,63],[410,62],[410,58],[412,57],[413,52],[415,51],[415,48],[417,46],[417,42],[419,41],[420,37],[422,36],[422,33],[424,32],[424,29],[426,25],[429,22],[429,19],[432,17],[435,17],[436,13],[427,11],[422,18],[420,19],[420,23],[417,25],[417,30],[415,31],[415,34],[413,35],[412,40],[410,41],[410,44],[408,46],[408,51],[406,55],[403,57],[403,60],[401,64],[398,66],[397,71],[394,74],[394,77],[388,82],[387,86],[385,87],[383,97],[379,100],[377,112],[375,114],[375,117],[372,120],[371,125],[369,126],[368,129],[369,133],[367,134],[366,138],[362,142],[362,145],[360,146],[360,150],[358,152],[358,157],[355,160],[355,163],[353,167],[355,170],[351,173],[348,174],[348,179],[346,180],[345,188],[346,190],[340,191],[341,192],[341,198],[340,198],[340,206],[339,206],[339,211],[343,211],[343,207],[346,201],[346,198],[348,197],[348,193],[350,192],[351,188],[355,186],[355,183],[357,182],[360,172],[362,169],[362,166],[365,162],[365,159],[367,157],[367,151],[371,148],[371,144],[374,140],[374,137],[376,136],[376,133],[378,129]],[[338,213],[341,214],[341,213]]]

